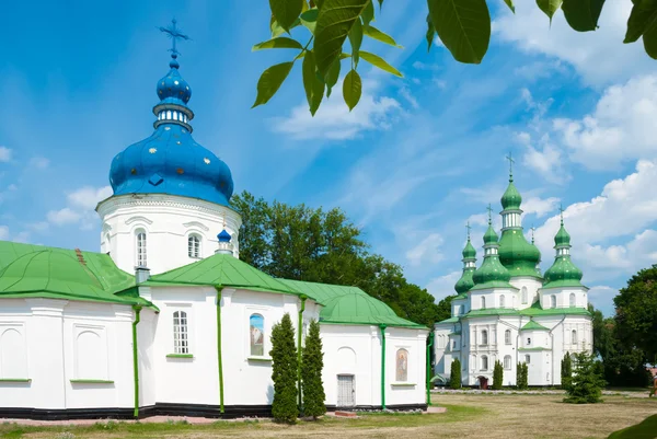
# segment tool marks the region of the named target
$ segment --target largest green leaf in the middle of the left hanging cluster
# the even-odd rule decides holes
[[[326,76],[347,38],[347,34],[360,16],[369,0],[323,0],[315,27],[313,51],[318,70]]]

